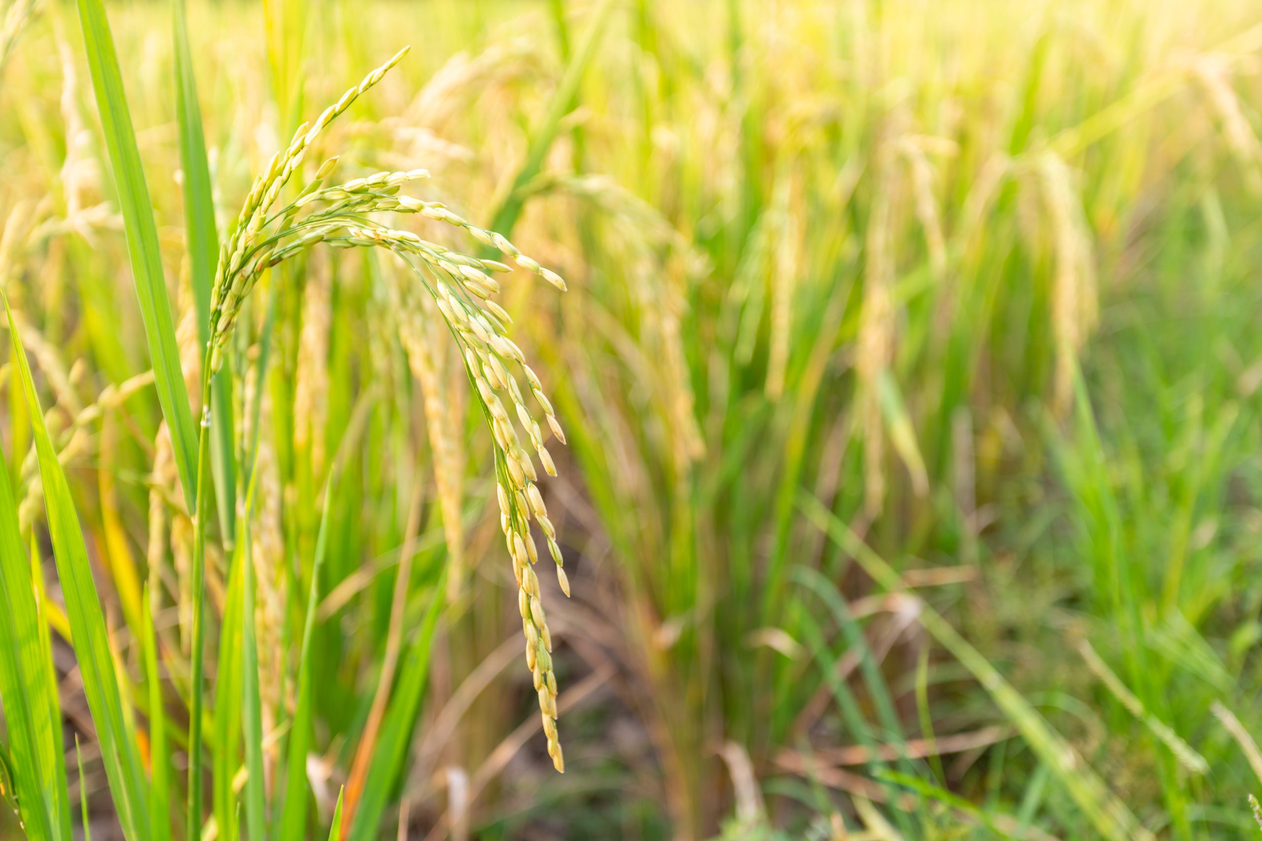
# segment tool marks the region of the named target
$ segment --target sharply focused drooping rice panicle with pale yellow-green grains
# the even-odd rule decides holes
[[[551,434],[564,444],[551,403],[544,395],[539,377],[525,363],[521,349],[507,337],[509,314],[493,300],[500,291],[492,277],[511,269],[498,261],[477,258],[428,242],[410,231],[390,228],[370,214],[377,212],[420,213],[425,218],[464,228],[482,245],[498,250],[505,258],[539,275],[553,286],[565,289],[553,271],[521,253],[504,236],[478,228],[452,213],[442,203],[423,202],[400,195],[404,184],[428,178],[424,170],[377,173],[343,184],[326,187],[337,159],[321,165],[316,178],[298,198],[279,211],[271,211],[280,190],[302,165],[305,150],[316,136],[365,91],[381,81],[408,50],[400,50],[389,62],[372,71],[356,87],[347,91],[336,105],[327,108],[310,127],[302,126],[289,148],[275,155],[266,171],[250,190],[236,227],[220,252],[218,271],[211,299],[211,371],[222,364],[222,349],[241,305],[260,275],[269,267],[303,252],[317,243],[333,247],[381,247],[399,256],[411,270],[420,286],[433,296],[439,313],[461,349],[476,398],[481,403],[495,440],[496,482],[501,526],[519,586],[519,606],[526,637],[526,663],[534,676],[548,736],[548,754],[558,770],[564,769],[560,743],[557,739],[557,678],[551,664],[551,635],[540,601],[539,579],[533,565],[538,560],[529,521],[534,517],[557,561],[560,588],[569,595],[569,581],[562,569],[557,531],[548,518],[543,497],[535,485],[538,474],[530,453],[522,446],[514,422],[505,410],[500,393],[511,401],[530,445],[549,475],[555,465],[544,446],[543,431],[517,385],[512,371],[520,368],[530,391],[543,410]],[[409,295],[401,296],[404,300]],[[400,322],[424,318],[424,313],[400,313]],[[409,325],[414,327],[414,325]],[[208,420],[203,416],[203,424]]]

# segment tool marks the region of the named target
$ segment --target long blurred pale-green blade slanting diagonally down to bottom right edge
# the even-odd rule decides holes
[[[902,579],[867,543],[858,538],[833,512],[818,499],[803,494],[799,504],[806,517],[834,540],[878,585],[890,593],[904,593]],[[996,705],[1016,725],[1026,743],[1060,779],[1066,793],[1100,836],[1113,841],[1152,841],[1153,835],[1078,755],[1059,733],[1016,688],[1012,687],[986,657],[959,635],[946,619],[926,603],[917,604],[920,624],[964,666],[989,692]]]

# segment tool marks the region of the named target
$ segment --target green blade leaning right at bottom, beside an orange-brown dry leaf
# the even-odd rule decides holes
[[[434,630],[438,627],[438,614],[443,608],[443,594],[447,588],[447,574],[439,576],[430,596],[429,608],[420,632],[408,652],[408,661],[399,673],[403,676],[390,706],[386,710],[385,724],[377,738],[377,748],[369,765],[369,775],[363,783],[363,794],[351,822],[351,841],[369,841],[377,837],[381,816],[399,774],[403,772],[408,748],[411,744],[411,731],[420,715],[420,702],[429,680],[429,659],[433,653]]]

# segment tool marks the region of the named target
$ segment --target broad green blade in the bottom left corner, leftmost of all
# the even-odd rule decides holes
[[[9,464],[0,453],[0,700],[14,763],[14,796],[28,837],[69,841],[69,796],[56,729],[53,662],[40,642],[30,561],[18,527]]]

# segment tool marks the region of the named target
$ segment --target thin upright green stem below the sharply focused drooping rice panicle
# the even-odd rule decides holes
[[[193,648],[189,653],[192,680],[188,705],[188,832],[189,841],[201,837],[202,828],[202,603],[206,590],[206,519],[209,516],[211,489],[211,351],[202,363],[202,429],[197,446],[197,496],[193,516]],[[223,828],[221,828],[223,831]]]

